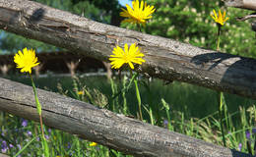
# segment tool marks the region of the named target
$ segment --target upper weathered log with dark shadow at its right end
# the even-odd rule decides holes
[[[0,28],[108,60],[113,47],[137,43],[146,63],[136,71],[256,98],[256,61],[160,36],[108,26],[28,0],[0,0]]]

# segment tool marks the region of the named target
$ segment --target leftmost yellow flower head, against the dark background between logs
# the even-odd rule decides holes
[[[21,68],[22,73],[29,72],[32,74],[32,67],[37,66],[37,57],[33,49],[28,50],[27,47],[14,56],[14,62],[17,64],[17,68]]]

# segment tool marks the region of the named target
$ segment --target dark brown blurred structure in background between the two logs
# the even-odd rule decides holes
[[[83,54],[74,52],[41,52],[36,54],[38,61],[41,63],[40,72],[51,71],[54,73],[69,73],[67,63],[79,62],[76,70],[79,72],[96,72],[97,69],[104,69],[101,61]],[[9,65],[9,71],[19,71],[14,63],[14,55],[0,55],[0,66]],[[36,72],[36,71],[35,71]],[[37,72],[38,73],[38,72]]]

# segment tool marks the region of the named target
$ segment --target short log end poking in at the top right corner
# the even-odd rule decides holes
[[[256,11],[255,0],[224,0],[224,4],[228,7],[236,7]]]

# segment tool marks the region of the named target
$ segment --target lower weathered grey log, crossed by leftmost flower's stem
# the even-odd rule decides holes
[[[250,157],[228,148],[37,89],[46,126],[135,156]],[[32,87],[0,78],[0,110],[38,121]]]

